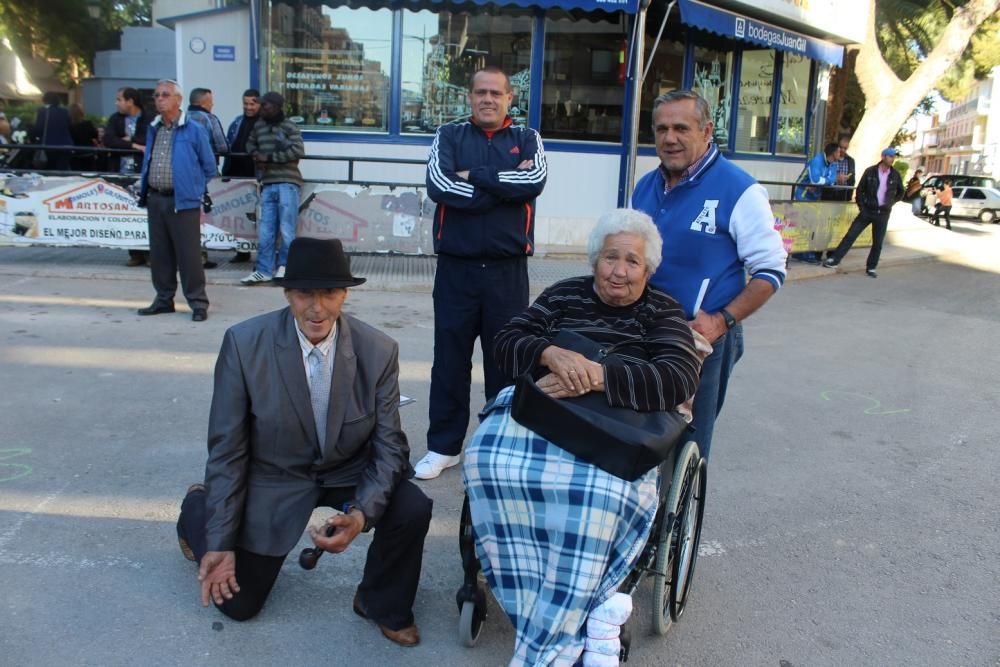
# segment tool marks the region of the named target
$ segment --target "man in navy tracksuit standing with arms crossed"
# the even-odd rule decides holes
[[[417,479],[461,460],[469,426],[472,349],[479,338],[487,399],[503,388],[493,337],[528,307],[535,198],[545,187],[542,140],[513,125],[510,80],[497,67],[472,77],[472,117],[438,128],[427,161],[434,211],[434,365],[427,455]]]

